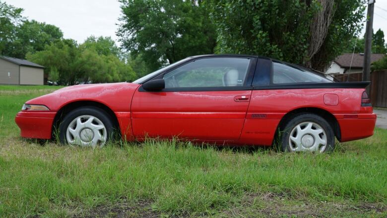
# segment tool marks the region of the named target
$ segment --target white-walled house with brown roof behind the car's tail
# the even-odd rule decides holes
[[[371,63],[379,61],[385,54],[371,54]],[[345,53],[338,56],[331,64],[326,74],[360,73],[363,72],[363,53]]]

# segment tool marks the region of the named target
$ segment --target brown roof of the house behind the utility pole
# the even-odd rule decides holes
[[[371,54],[371,63],[379,61],[385,56],[385,54]],[[337,57],[334,62],[342,68],[349,68],[351,66],[352,53],[345,53]],[[353,54],[351,68],[363,68],[364,54]]]

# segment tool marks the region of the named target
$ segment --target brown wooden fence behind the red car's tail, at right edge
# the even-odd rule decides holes
[[[336,74],[334,78],[342,82],[358,82],[362,81],[363,73]],[[372,106],[387,107],[387,70],[371,73],[370,92]]]

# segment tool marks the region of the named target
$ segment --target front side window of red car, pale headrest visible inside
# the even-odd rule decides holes
[[[249,68],[247,58],[205,58],[166,73],[166,88],[243,86]]]

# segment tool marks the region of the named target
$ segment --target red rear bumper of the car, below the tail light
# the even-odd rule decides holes
[[[376,114],[335,115],[340,126],[340,142],[364,139],[374,135]]]

